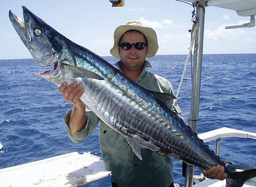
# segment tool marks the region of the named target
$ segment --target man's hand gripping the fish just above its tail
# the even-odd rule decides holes
[[[205,175],[205,177],[210,179],[223,180],[228,177],[228,174],[225,173],[224,166],[221,166],[221,165],[213,166],[212,168],[210,168],[210,170],[202,170],[202,172],[203,172],[203,175]]]

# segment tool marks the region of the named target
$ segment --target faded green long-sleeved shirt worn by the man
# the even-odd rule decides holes
[[[120,69],[120,64],[121,62],[117,62],[115,65]],[[147,67],[152,66],[145,61],[144,69],[136,82],[148,90],[175,96],[171,83],[165,78],[146,71]],[[167,105],[182,118],[180,107],[173,100],[169,100]],[[74,142],[80,142],[87,138],[100,122],[100,119],[86,108],[87,124],[85,128],[80,132],[71,134],[69,129],[70,114],[71,110],[66,114],[65,122],[69,138]],[[112,181],[116,182],[118,186],[170,186],[173,182],[173,165],[167,156],[142,149],[142,161],[139,160],[126,139],[102,121],[99,127],[99,139],[103,160],[108,170],[112,171]]]

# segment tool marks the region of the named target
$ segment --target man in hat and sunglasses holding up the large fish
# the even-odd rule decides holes
[[[110,53],[121,60],[115,65],[130,79],[146,89],[175,96],[168,80],[145,70],[151,67],[146,57],[153,57],[157,49],[155,30],[143,27],[139,21],[129,21],[114,31],[114,46]],[[63,83],[59,91],[74,105],[74,109],[65,116],[69,138],[74,142],[82,141],[100,120],[89,109],[85,109],[80,101],[84,91],[81,84],[74,82],[67,86]],[[173,100],[169,100],[167,105],[182,118],[180,108]],[[100,124],[99,136],[103,160],[112,171],[112,186],[173,186],[173,166],[167,156],[144,149],[142,161],[139,160],[126,139],[103,122]],[[225,178],[223,167],[213,167],[204,172],[207,177]]]

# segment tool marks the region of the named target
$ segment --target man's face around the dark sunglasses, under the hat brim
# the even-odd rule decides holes
[[[142,33],[137,31],[124,33],[120,41],[120,44],[124,42],[143,42],[146,43],[145,37]],[[129,50],[124,50],[118,46],[119,55],[121,58],[121,69],[128,69],[129,71],[137,71],[142,69],[142,66],[146,60],[148,53],[148,46],[141,50],[137,50],[135,46],[132,46]]]

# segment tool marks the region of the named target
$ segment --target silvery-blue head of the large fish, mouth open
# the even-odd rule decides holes
[[[58,62],[61,48],[56,39],[56,30],[22,6],[24,20],[9,12],[12,26],[17,31],[22,42],[40,66],[51,66]]]

